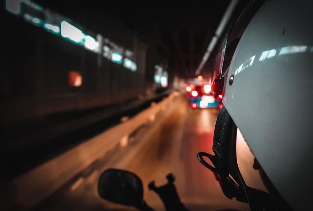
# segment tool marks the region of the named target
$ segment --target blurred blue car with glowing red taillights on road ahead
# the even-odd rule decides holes
[[[197,85],[190,92],[189,104],[192,109],[196,108],[219,108],[223,107],[222,95],[214,98],[212,95],[211,85]]]

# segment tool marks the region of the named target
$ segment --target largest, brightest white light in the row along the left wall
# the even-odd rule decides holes
[[[69,38],[75,43],[81,43],[84,38],[84,33],[81,32],[78,28],[74,27],[66,21],[61,22],[61,36],[64,38]]]

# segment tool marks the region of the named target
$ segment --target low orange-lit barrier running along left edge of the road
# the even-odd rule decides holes
[[[108,129],[14,179],[8,184],[8,188],[14,191],[11,196],[6,195],[8,199],[4,201],[6,207],[10,210],[12,206],[13,209],[22,210],[32,208],[105,152],[117,144],[127,142],[128,136],[133,131],[147,121],[151,121],[159,111],[165,110],[168,103],[172,103],[173,98],[179,95],[179,92],[173,92],[161,102],[152,104],[151,107],[126,122]]]

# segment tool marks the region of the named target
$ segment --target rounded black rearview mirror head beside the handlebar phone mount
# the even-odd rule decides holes
[[[143,201],[141,179],[120,169],[109,168],[100,175],[98,192],[101,198],[123,205],[138,206]]]

